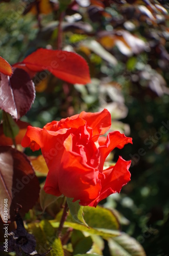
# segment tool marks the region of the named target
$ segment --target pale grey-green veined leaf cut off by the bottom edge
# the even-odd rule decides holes
[[[111,256],[146,256],[142,246],[126,233],[108,239]]]

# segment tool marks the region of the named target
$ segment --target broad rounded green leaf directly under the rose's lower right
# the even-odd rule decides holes
[[[83,211],[84,219],[90,227],[111,230],[119,229],[119,222],[113,211],[101,206],[97,206],[96,208],[85,206]]]

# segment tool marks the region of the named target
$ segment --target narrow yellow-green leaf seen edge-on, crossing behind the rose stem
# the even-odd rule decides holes
[[[60,222],[56,222],[56,221],[50,221],[50,222],[54,228],[59,227]],[[73,229],[85,231],[90,234],[97,234],[98,236],[101,236],[104,238],[116,237],[116,236],[119,236],[119,234],[120,234],[120,232],[118,230],[111,230],[111,229],[106,229],[106,228],[92,228],[92,227],[87,227],[87,226],[79,224],[79,223],[67,222],[67,221],[64,222],[63,227],[64,228],[71,227]]]

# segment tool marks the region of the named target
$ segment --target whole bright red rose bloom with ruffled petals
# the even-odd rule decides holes
[[[96,206],[130,181],[131,161],[119,157],[104,169],[108,154],[123,148],[132,139],[119,132],[105,134],[111,126],[108,110],[79,115],[47,123],[43,129],[28,126],[22,146],[33,151],[41,148],[49,168],[44,185],[48,194],[80,200],[81,205]]]

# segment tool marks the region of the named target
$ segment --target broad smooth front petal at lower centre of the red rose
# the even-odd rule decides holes
[[[61,160],[61,170],[59,173],[59,187],[62,194],[70,198],[75,198],[76,200],[86,199],[86,191],[88,191],[91,186],[99,186],[101,189],[98,183],[98,176],[98,169],[92,168],[86,164],[82,156],[75,152],[64,152],[64,158]],[[99,192],[93,191],[93,193],[88,195],[89,199],[95,197],[95,194]]]

